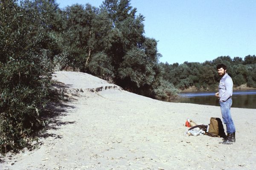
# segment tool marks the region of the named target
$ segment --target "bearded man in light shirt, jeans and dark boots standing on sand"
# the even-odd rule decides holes
[[[215,96],[219,99],[222,119],[227,127],[227,138],[221,143],[232,144],[232,142],[236,142],[236,128],[230,113],[230,107],[232,105],[233,81],[226,72],[226,65],[217,65],[217,71],[218,75],[221,77],[221,80],[219,83],[219,91],[215,94]]]

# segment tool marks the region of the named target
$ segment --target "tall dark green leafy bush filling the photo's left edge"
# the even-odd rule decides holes
[[[30,3],[30,2],[26,2]],[[0,152],[25,147],[44,125],[52,64],[37,11],[0,1]]]

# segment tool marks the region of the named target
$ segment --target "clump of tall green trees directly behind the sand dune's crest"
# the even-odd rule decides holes
[[[144,36],[144,17],[130,0],[105,0],[64,9],[63,37],[67,65],[140,94],[154,96],[157,41]],[[142,92],[143,91],[143,92]]]

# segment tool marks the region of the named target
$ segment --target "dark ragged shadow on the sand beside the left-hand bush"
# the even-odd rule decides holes
[[[67,94],[67,89],[70,88],[70,85],[65,85],[62,82],[53,82],[52,91],[49,94],[50,102],[47,104],[47,107],[44,108],[41,112],[41,121],[44,121],[45,125],[37,127],[34,129],[32,134],[32,139],[30,143],[26,144],[28,150],[34,150],[35,148],[43,145],[43,142],[38,142],[37,139],[54,137],[55,139],[61,139],[62,136],[58,133],[49,133],[49,130],[57,130],[62,125],[68,125],[75,123],[74,121],[63,121],[61,118],[67,115],[67,112],[70,113],[70,109],[76,109],[72,106],[70,102],[77,100],[75,94]],[[67,111],[69,110],[69,111]],[[4,155],[0,154],[0,164],[4,163],[6,160],[11,160],[13,154],[23,152],[23,150],[12,150],[11,155],[8,158],[4,158]],[[1,169],[1,168],[0,168]]]

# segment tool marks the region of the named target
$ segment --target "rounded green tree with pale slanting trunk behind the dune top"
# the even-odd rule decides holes
[[[105,10],[90,4],[68,6],[64,14],[67,26],[64,44],[69,65],[93,73],[88,67],[92,57],[99,52],[106,53],[111,48],[111,20]]]

